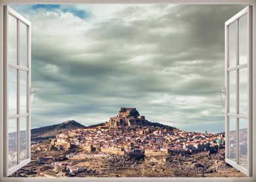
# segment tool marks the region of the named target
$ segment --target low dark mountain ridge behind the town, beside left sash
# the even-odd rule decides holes
[[[56,125],[49,125],[45,127],[31,129],[31,136],[32,138],[37,136],[41,136],[41,137],[54,136],[56,135],[56,133],[59,133],[59,131],[67,131],[67,130],[77,129],[77,128],[86,128],[86,127],[74,120],[69,120],[67,122],[59,123]]]

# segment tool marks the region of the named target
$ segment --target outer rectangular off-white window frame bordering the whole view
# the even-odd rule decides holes
[[[161,177],[161,178],[10,178],[4,177],[4,137],[3,137],[3,114],[4,112],[4,95],[3,95],[3,88],[4,88],[4,73],[3,73],[3,47],[4,47],[4,37],[3,37],[3,6],[4,5],[11,5],[11,4],[85,4],[85,3],[172,3],[172,4],[189,4],[189,5],[253,5],[253,16],[252,16],[252,27],[253,27],[253,51],[252,51],[252,176],[251,177]],[[256,181],[256,0],[0,0],[0,181],[62,181],[62,182],[69,182],[69,181],[248,181],[248,182],[255,182]],[[223,24],[224,26],[224,24]]]

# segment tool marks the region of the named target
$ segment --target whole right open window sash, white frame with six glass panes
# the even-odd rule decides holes
[[[249,176],[252,165],[251,32],[251,6],[225,22],[225,161]]]

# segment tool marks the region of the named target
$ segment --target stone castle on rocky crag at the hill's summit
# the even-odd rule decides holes
[[[110,118],[105,125],[110,128],[118,128],[132,125],[146,125],[148,120],[145,116],[140,116],[136,108],[121,107],[118,116]]]

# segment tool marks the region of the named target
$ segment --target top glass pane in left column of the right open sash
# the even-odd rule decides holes
[[[229,25],[229,68],[236,66],[236,22]]]

